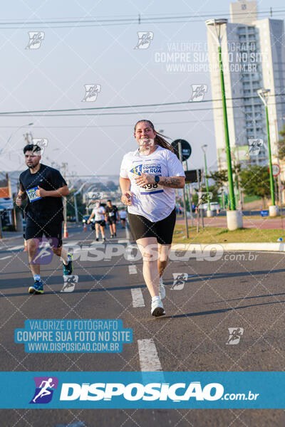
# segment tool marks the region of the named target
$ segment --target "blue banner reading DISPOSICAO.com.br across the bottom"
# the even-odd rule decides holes
[[[285,372],[0,372],[0,408],[285,408]]]

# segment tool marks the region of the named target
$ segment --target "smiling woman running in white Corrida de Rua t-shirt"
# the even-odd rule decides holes
[[[143,278],[152,297],[151,314],[165,315],[162,273],[175,227],[175,189],[185,186],[182,164],[150,120],[135,125],[138,149],[123,157],[121,201],[128,206],[130,228],[143,260]]]

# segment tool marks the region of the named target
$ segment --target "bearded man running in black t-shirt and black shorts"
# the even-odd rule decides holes
[[[52,167],[41,164],[41,148],[28,144],[24,147],[25,162],[28,167],[19,176],[20,190],[16,205],[21,206],[27,199],[25,208],[25,240],[28,248],[28,262],[33,274],[33,286],[28,288],[31,294],[43,294],[40,264],[34,262],[38,242],[46,236],[51,249],[63,261],[63,275],[73,272],[72,255],[62,247],[62,196],[68,196],[69,190],[61,173]]]

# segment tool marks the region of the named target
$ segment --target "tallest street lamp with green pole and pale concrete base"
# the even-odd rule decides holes
[[[226,143],[226,154],[227,154],[227,173],[229,180],[229,201],[230,211],[227,211],[227,227],[229,230],[236,230],[242,228],[242,212],[236,211],[236,201],[234,198],[234,180],[232,178],[232,158],[231,150],[229,146],[229,128],[227,122],[227,103],[226,95],[224,90],[224,71],[222,65],[222,28],[227,27],[227,19],[208,19],[206,21],[207,28],[212,30],[212,36],[218,44],[218,56],[219,56],[219,73],[221,78],[221,90],[222,90],[222,107],[224,113],[224,138]],[[223,27],[224,26],[224,27]]]

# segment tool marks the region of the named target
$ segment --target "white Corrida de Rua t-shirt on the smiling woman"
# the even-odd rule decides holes
[[[175,189],[159,184],[140,187],[135,183],[135,178],[140,174],[185,176],[182,163],[176,154],[160,146],[146,156],[137,149],[123,157],[120,176],[130,179],[130,191],[133,193],[133,204],[128,206],[128,211],[130,214],[145,216],[152,222],[161,221],[175,208]]]

